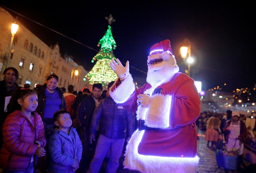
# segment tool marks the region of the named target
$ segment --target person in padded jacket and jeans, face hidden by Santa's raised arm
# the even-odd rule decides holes
[[[110,82],[108,88],[114,84]],[[110,158],[106,172],[115,173],[119,167],[119,158],[122,155],[126,135],[128,141],[134,132],[135,116],[118,105],[109,96],[95,108],[90,127],[90,142],[95,140],[96,127],[100,124],[100,136],[96,146],[96,152],[91,161],[88,173],[98,173],[108,150]],[[128,129],[128,134],[126,133]]]

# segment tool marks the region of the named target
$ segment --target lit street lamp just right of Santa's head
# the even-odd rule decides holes
[[[190,57],[190,41],[189,39],[184,40],[184,46],[180,48],[181,58],[183,61],[187,61],[187,71],[186,74],[190,77],[190,64],[194,61],[193,58]]]

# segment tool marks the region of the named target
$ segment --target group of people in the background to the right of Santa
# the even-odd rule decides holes
[[[197,119],[197,126],[200,130],[206,131],[207,147],[214,148],[216,143],[222,142],[226,146],[233,145],[233,147],[227,147],[227,150],[230,151],[235,146],[232,140],[236,140],[236,144],[238,144],[238,141],[245,141],[248,137],[245,118],[245,115],[231,110],[227,110],[224,114],[202,112]],[[239,145],[235,147],[240,148]]]

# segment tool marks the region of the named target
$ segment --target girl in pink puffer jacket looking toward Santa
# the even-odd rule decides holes
[[[44,126],[37,108],[37,93],[18,87],[7,106],[3,124],[0,165],[5,173],[33,173],[38,157],[45,155]]]

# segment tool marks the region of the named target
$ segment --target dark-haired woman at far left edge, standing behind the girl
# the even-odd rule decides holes
[[[7,105],[11,99],[12,92],[19,86],[15,83],[18,79],[18,70],[14,67],[6,68],[3,71],[3,80],[0,81],[0,148],[3,144],[2,126],[7,116]]]

